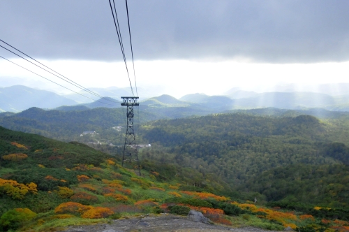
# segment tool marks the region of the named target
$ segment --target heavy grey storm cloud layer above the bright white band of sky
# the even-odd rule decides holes
[[[131,58],[125,1],[116,3]],[[135,59],[349,60],[347,0],[128,0],[128,8]],[[122,59],[107,0],[1,1],[0,39],[36,58]]]

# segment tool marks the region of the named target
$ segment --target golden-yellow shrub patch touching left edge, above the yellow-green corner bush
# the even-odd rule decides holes
[[[0,178],[0,191],[5,192],[8,196],[12,196],[14,199],[22,199],[24,196],[31,191],[36,194],[38,189],[37,185],[33,182],[30,184],[20,184],[15,180],[4,180]]]

